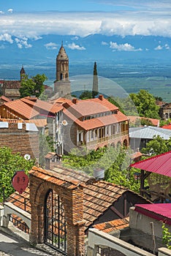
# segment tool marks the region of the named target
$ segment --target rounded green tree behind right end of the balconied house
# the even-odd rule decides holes
[[[148,91],[140,90],[138,94],[129,94],[140,116],[159,118],[159,106],[156,99]]]

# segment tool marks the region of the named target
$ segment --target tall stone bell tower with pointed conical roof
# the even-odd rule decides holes
[[[69,58],[64,49],[63,43],[56,57],[56,81],[54,83],[54,92],[58,97],[68,97],[71,92],[69,81]]]

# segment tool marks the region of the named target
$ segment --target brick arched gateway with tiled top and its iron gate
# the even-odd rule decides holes
[[[29,174],[31,243],[48,244],[63,255],[85,255],[83,188],[79,182],[61,180],[55,171],[40,167],[33,167]]]

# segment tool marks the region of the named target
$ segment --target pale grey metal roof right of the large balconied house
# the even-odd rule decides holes
[[[164,140],[169,140],[171,131],[160,127],[135,127],[129,128],[129,138],[143,138],[152,140],[154,136],[159,135]]]

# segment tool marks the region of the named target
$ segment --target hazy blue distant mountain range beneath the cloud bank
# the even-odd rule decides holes
[[[104,60],[118,64],[129,64],[130,61],[134,64],[144,61],[170,62],[171,38],[169,37],[44,35],[37,40],[27,39],[27,44],[22,45],[23,48],[18,48],[15,37],[12,39],[13,43],[5,42],[0,48],[0,64],[9,64],[9,62],[25,65],[39,64],[39,62],[53,64],[62,41],[71,62]]]

